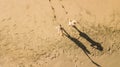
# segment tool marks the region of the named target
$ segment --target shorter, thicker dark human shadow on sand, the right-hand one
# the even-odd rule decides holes
[[[91,43],[91,47],[95,48],[95,49],[98,49],[100,51],[103,51],[103,47],[101,46],[100,43],[94,41],[93,39],[91,39],[86,33],[84,32],[81,32],[76,26],[73,26],[73,28],[75,28],[78,32],[79,32],[79,35],[83,38],[85,38],[88,42]]]

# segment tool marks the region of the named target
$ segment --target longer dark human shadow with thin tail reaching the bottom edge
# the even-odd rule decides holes
[[[65,35],[68,39],[70,39],[72,42],[74,42],[78,47],[80,47],[80,48],[83,50],[83,52],[86,54],[86,56],[90,59],[90,61],[91,61],[94,65],[96,65],[97,67],[101,67],[99,64],[97,64],[95,61],[93,61],[93,60],[90,58],[90,56],[88,55],[88,54],[90,54],[90,51],[84,46],[83,43],[81,43],[78,39],[70,36],[64,28],[62,28],[62,30],[64,30],[64,35]]]

